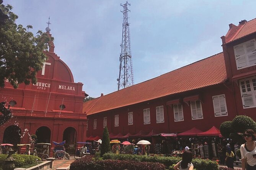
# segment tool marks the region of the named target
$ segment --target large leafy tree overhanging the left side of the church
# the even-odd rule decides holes
[[[53,40],[47,33],[38,31],[36,36],[29,29],[15,23],[18,16],[11,12],[11,5],[0,5],[8,15],[5,24],[0,26],[0,87],[5,80],[17,88],[20,83],[36,83],[36,73],[42,69],[47,56],[44,51]]]

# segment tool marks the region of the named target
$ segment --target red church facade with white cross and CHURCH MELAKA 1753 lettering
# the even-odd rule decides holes
[[[26,144],[32,134],[37,135],[37,143],[85,141],[88,120],[82,112],[83,84],[74,82],[68,66],[54,53],[53,42],[45,54],[48,59],[37,73],[36,84],[20,84],[15,89],[5,80],[5,88],[0,89],[0,101],[10,104],[13,113],[0,127],[1,143]]]

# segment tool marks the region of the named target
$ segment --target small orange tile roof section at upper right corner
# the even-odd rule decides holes
[[[238,25],[240,26],[240,25]],[[235,32],[233,33],[234,36],[232,38],[230,38],[230,40],[227,40],[227,42],[225,43],[230,43],[232,41],[238,40],[242,37],[245,37],[246,35],[250,35],[254,32],[256,32],[256,18],[247,21],[243,24],[243,26],[241,26],[240,29],[238,30],[234,30]],[[227,35],[226,35],[227,37]]]

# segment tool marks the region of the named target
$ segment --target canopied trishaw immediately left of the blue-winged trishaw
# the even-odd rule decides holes
[[[35,145],[35,156],[41,157],[42,160],[49,158],[51,143],[37,143]]]

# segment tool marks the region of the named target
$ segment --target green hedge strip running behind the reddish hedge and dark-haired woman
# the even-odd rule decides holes
[[[173,164],[177,164],[180,160],[182,160],[181,157],[140,156],[113,153],[104,154],[103,159],[134,160],[140,162],[159,162],[161,164],[164,164],[166,167],[170,167]],[[194,168],[197,170],[218,170],[217,162],[209,159],[192,159],[192,164],[194,165]]]

